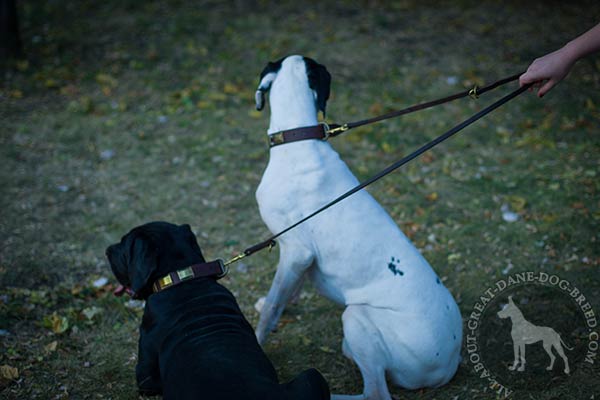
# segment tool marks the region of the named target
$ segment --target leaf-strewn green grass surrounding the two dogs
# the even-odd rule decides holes
[[[103,256],[132,227],[190,223],[208,258],[268,235],[254,200],[268,120],[253,111],[268,60],[299,53],[325,64],[328,121],[345,122],[516,73],[600,15],[592,1],[19,6],[27,58],[0,89],[0,365],[18,369],[1,383],[6,399],[137,396],[140,311],[111,297]],[[509,266],[558,273],[600,310],[599,88],[598,57],[582,60],[544,100],[519,97],[369,188],[465,317]],[[333,146],[366,178],[497,96],[362,128]],[[503,204],[519,221],[503,221]],[[223,281],[253,324],[276,261],[257,254]],[[101,277],[111,283],[94,287]],[[266,346],[283,380],[314,366],[334,392],[361,390],[340,351],[340,315],[306,286]],[[590,398],[598,372],[516,398]],[[495,398],[466,361],[442,388],[392,390]]]

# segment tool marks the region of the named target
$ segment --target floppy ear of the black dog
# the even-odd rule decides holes
[[[151,241],[138,235],[130,245],[129,282],[136,297],[145,298],[150,295],[150,278],[157,269],[156,248]]]

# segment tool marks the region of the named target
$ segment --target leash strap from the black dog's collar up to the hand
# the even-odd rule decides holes
[[[515,75],[515,76],[518,77],[519,75]],[[513,78],[512,80],[516,79],[514,77],[511,77],[511,78]],[[507,79],[509,79],[509,78],[507,78]],[[495,85],[498,86],[500,84],[503,84],[503,83],[499,83],[499,82],[502,82],[502,81],[496,82]],[[507,82],[510,82],[510,80],[507,81]],[[504,83],[506,83],[506,82],[504,82]],[[230,261],[226,262],[225,265],[229,265],[232,262],[235,262],[235,261],[237,261],[237,260],[239,260],[241,258],[247,257],[247,256],[249,256],[251,254],[254,254],[257,251],[262,250],[262,249],[264,249],[266,247],[272,248],[273,246],[275,246],[275,243],[276,243],[275,239],[277,239],[278,237],[280,237],[284,233],[289,232],[290,230],[294,229],[298,225],[300,225],[300,224],[308,221],[309,219],[313,218],[317,214],[322,213],[323,211],[325,211],[328,208],[334,206],[335,204],[341,202],[342,200],[344,200],[344,199],[352,196],[354,193],[358,192],[359,190],[364,189],[365,187],[369,186],[370,184],[378,181],[379,179],[383,178],[384,176],[388,175],[389,173],[393,172],[394,170],[400,168],[404,164],[412,161],[413,159],[415,159],[416,157],[418,157],[421,154],[425,153],[426,151],[431,150],[433,147],[437,146],[438,144],[442,143],[446,139],[450,138],[451,136],[453,136],[456,133],[460,132],[461,130],[465,129],[467,126],[473,124],[477,120],[483,118],[484,116],[486,116],[487,114],[491,113],[492,111],[494,111],[498,107],[500,107],[500,106],[508,103],[510,100],[514,99],[515,97],[517,97],[521,93],[525,92],[532,85],[533,84],[524,85],[524,86],[518,88],[517,90],[515,90],[514,92],[507,94],[506,96],[502,97],[500,100],[496,101],[495,103],[489,105],[488,107],[486,107],[483,110],[479,111],[475,115],[471,116],[470,118],[468,118],[468,119],[464,120],[463,122],[461,122],[460,124],[456,125],[454,128],[446,131],[445,133],[443,133],[442,135],[438,136],[434,140],[432,140],[432,141],[424,144],[423,146],[421,146],[417,150],[413,151],[409,155],[407,155],[407,156],[403,157],[402,159],[396,161],[395,163],[393,163],[389,167],[385,168],[381,172],[375,174],[371,178],[369,178],[369,179],[361,182],[360,184],[358,184],[354,188],[348,190],[346,193],[342,194],[341,196],[337,197],[336,199],[332,200],[331,202],[325,204],[324,206],[322,206],[321,208],[319,208],[318,210],[316,210],[312,214],[307,215],[306,217],[302,218],[301,220],[299,220],[298,222],[294,223],[293,225],[290,225],[289,227],[285,228],[284,230],[280,231],[279,233],[277,233],[275,235],[272,235],[268,239],[266,239],[266,240],[264,240],[264,241],[262,241],[262,242],[260,242],[258,244],[255,244],[254,246],[248,247],[246,250],[243,251],[243,253],[237,255],[236,257],[234,257]],[[491,89],[492,89],[491,87],[486,87],[486,91],[487,90],[491,90]],[[479,93],[481,93],[481,92],[479,92]],[[362,122],[362,121],[360,121],[360,122]]]

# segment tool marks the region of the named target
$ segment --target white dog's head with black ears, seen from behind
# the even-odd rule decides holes
[[[325,115],[325,107],[329,99],[331,75],[324,65],[312,58],[288,56],[274,62],[269,62],[260,74],[256,90],[256,109],[262,110],[265,105],[265,93],[278,80],[291,80],[300,83],[311,92],[317,110]],[[297,87],[294,87],[296,89]],[[292,94],[298,96],[299,93]]]

